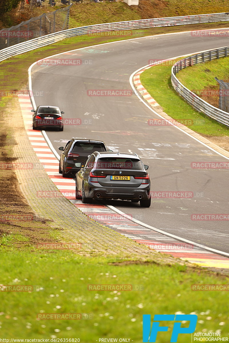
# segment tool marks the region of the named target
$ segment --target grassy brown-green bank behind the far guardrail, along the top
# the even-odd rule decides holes
[[[24,5],[23,11],[14,9],[5,14],[0,20],[0,27],[4,25],[17,25],[31,17],[43,13],[55,11],[66,7],[60,0],[56,0],[56,6],[50,7],[48,1],[43,2],[43,7],[33,8]],[[84,0],[83,3],[73,3],[70,10],[70,26],[118,22],[126,20],[150,19],[158,17],[194,15],[205,13],[227,12],[228,6],[225,0],[139,0],[138,6],[128,6],[123,1],[105,1],[94,3]],[[61,18],[61,15],[60,15]]]

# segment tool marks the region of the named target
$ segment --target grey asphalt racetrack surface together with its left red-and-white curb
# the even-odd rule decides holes
[[[228,213],[228,170],[194,169],[191,163],[227,162],[228,158],[175,126],[148,125],[149,119],[160,117],[134,92],[131,96],[90,96],[88,91],[132,90],[130,75],[149,60],[194,54],[227,46],[228,42],[228,37],[200,37],[184,32],[64,52],[47,59],[80,59],[81,64],[34,63],[29,70],[32,104],[29,97],[19,99],[28,137],[40,162],[76,207],[157,251],[218,268],[229,268],[228,221],[191,218],[193,214]],[[72,119],[80,119],[81,125],[65,125],[63,132],[32,130],[32,105],[59,106],[65,111],[65,120],[71,123]],[[151,191],[185,191],[192,192],[193,197],[152,198],[150,208],[121,200],[82,204],[75,200],[75,181],[58,173],[58,147],[73,137],[103,140],[113,151],[136,152],[149,165]],[[225,256],[218,255],[217,250]]]

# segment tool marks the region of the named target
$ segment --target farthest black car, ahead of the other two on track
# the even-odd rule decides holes
[[[64,129],[64,121],[62,114],[57,106],[38,106],[36,110],[31,110],[34,112],[33,115],[33,130],[38,130],[39,128],[57,128],[59,131]]]

